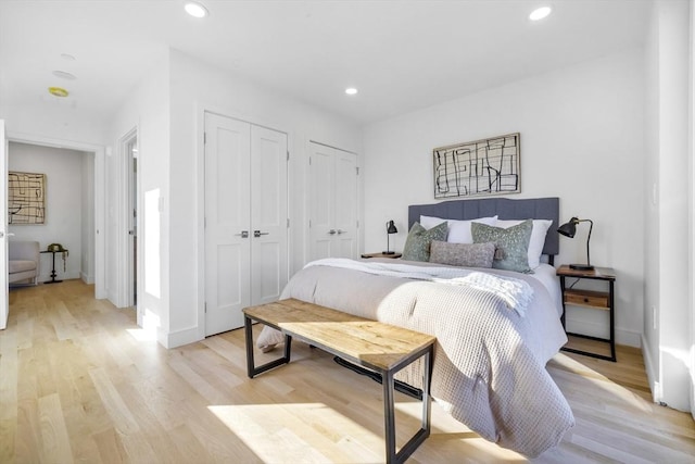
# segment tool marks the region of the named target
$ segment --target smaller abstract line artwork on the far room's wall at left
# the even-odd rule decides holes
[[[45,224],[46,174],[8,174],[8,223]]]

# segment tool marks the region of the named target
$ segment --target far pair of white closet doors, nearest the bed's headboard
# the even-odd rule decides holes
[[[357,156],[312,143],[312,260],[357,256]]]

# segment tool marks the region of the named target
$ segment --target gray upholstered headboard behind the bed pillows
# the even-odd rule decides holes
[[[501,220],[552,220],[553,224],[545,236],[543,254],[553,256],[560,251],[560,239],[556,233],[559,225],[559,198],[480,198],[453,200],[433,204],[413,204],[408,206],[408,229],[420,215],[446,217],[447,220],[475,220],[495,214]]]

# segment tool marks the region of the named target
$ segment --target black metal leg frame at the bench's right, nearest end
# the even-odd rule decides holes
[[[410,454],[419,447],[422,441],[430,436],[430,423],[432,418],[430,397],[430,384],[432,380],[432,352],[433,348],[430,346],[425,352],[425,372],[424,372],[424,387],[422,387],[422,423],[420,429],[408,440],[407,443],[401,448],[401,451],[395,451],[395,404],[393,398],[395,371],[386,371],[381,374],[383,384],[383,422],[384,422],[384,439],[387,451],[387,463],[404,463]],[[413,360],[415,361],[415,360]]]

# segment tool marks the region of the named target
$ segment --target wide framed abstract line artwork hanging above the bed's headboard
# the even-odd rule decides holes
[[[519,133],[432,150],[434,198],[519,193]]]

